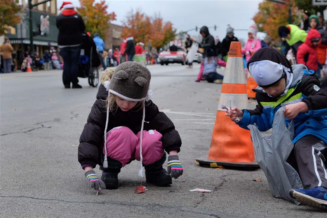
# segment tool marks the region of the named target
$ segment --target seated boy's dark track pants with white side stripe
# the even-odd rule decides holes
[[[313,135],[297,141],[287,162],[300,175],[305,189],[327,188],[327,145]]]

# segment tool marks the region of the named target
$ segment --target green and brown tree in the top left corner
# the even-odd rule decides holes
[[[8,26],[13,26],[21,22],[20,16],[16,15],[21,10],[18,0],[0,1],[0,36],[6,33]]]

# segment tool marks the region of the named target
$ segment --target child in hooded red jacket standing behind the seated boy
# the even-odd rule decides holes
[[[304,64],[309,70],[317,71],[318,69],[318,52],[317,46],[320,41],[320,33],[316,29],[311,29],[296,54],[299,64]]]

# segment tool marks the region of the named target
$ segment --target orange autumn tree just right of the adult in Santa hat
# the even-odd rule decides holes
[[[80,7],[77,12],[82,16],[85,24],[85,32],[99,33],[101,38],[105,38],[105,31],[109,28],[110,21],[116,20],[115,12],[108,13],[108,5],[105,1],[79,0]]]

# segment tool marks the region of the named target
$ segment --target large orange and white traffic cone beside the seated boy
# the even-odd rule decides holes
[[[232,123],[221,104],[246,109],[248,106],[241,43],[232,42],[225,68],[215,126],[208,157],[196,159],[204,167],[258,167],[250,131]]]

